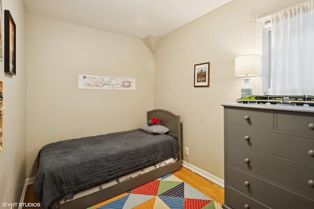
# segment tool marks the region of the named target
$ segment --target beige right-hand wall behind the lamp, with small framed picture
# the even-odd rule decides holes
[[[155,108],[181,115],[184,160],[224,179],[222,103],[240,98],[238,55],[257,53],[250,21],[306,0],[233,0],[164,36],[155,53]],[[210,62],[209,88],[195,88],[194,64]],[[251,78],[257,89],[257,78]],[[256,91],[254,91],[256,93]]]

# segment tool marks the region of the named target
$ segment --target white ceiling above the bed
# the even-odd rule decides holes
[[[162,37],[231,0],[24,0],[26,13],[143,39]]]

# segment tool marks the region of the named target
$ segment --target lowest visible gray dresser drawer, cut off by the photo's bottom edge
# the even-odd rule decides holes
[[[249,209],[270,209],[230,186],[225,187],[225,204],[233,209],[244,209],[245,206]]]

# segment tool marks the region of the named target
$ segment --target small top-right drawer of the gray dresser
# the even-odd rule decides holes
[[[278,113],[277,130],[314,136],[314,117]]]

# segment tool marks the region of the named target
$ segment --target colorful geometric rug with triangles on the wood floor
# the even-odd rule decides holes
[[[168,174],[88,209],[221,209],[221,205]]]

